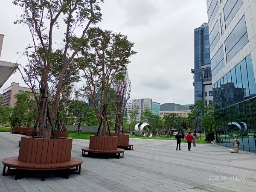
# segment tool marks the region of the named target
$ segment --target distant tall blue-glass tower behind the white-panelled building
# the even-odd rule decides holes
[[[203,100],[206,105],[213,103],[212,71],[210,61],[209,27],[203,23],[194,29],[195,41],[195,71],[193,82],[195,86],[195,102]]]

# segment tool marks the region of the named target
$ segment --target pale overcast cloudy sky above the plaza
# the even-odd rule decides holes
[[[25,65],[26,58],[17,52],[32,43],[29,29],[13,23],[20,8],[4,2],[0,3],[0,34],[5,35],[1,60]],[[96,26],[127,35],[135,44],[137,54],[128,66],[131,99],[193,104],[194,29],[207,23],[206,0],[105,0],[100,7],[102,21]],[[12,82],[25,86],[15,73],[0,93]]]

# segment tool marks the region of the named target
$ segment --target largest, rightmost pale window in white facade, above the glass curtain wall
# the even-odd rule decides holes
[[[225,41],[227,63],[248,43],[244,16]]]

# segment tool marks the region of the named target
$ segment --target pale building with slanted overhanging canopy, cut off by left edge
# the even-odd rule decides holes
[[[0,34],[0,58],[1,58],[1,52],[2,52],[2,46],[3,46],[3,38],[4,38],[4,35]],[[0,88],[15,71],[14,64],[15,63],[0,61]]]

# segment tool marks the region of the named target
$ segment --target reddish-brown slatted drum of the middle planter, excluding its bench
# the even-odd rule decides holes
[[[102,150],[102,151],[112,151],[117,149],[118,137],[109,136],[90,136],[90,149]]]

